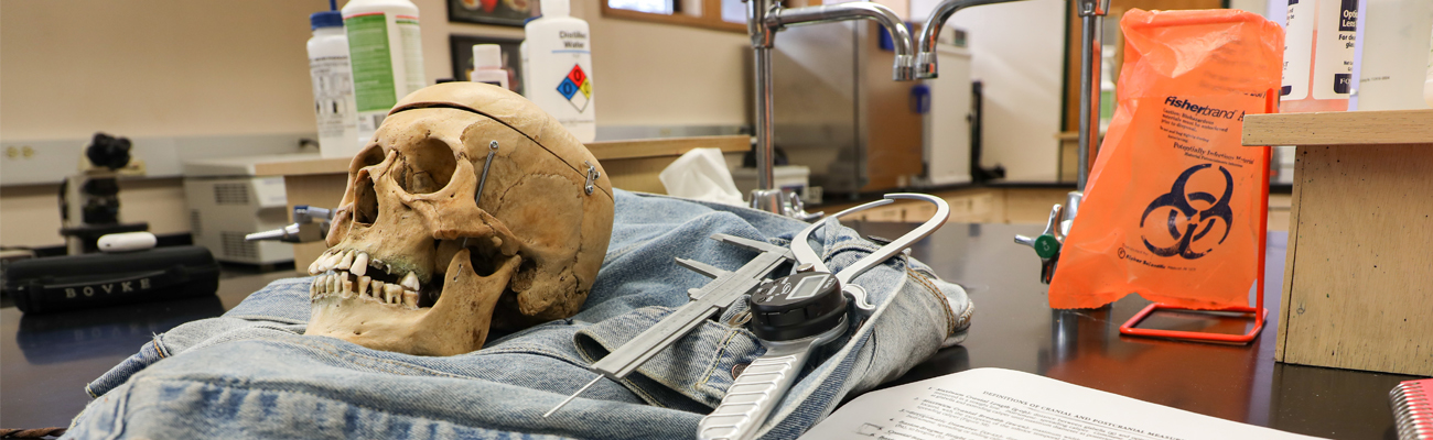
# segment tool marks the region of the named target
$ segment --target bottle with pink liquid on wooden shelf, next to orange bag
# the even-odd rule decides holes
[[[1344,111],[1353,91],[1358,1],[1288,0],[1280,111]]]

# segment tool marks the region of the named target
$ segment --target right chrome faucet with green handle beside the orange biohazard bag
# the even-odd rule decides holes
[[[920,54],[916,56],[916,76],[934,79],[936,70],[936,37],[940,27],[946,24],[957,10],[995,3],[1009,3],[1019,0],[944,0],[936,6],[934,13],[926,19],[926,26],[920,30]],[[1079,177],[1075,190],[1065,196],[1065,204],[1056,204],[1050,210],[1050,220],[1045,224],[1045,233],[1037,237],[1015,236],[1015,243],[1035,249],[1040,257],[1040,281],[1049,284],[1059,264],[1060,249],[1065,236],[1069,234],[1075,216],[1079,214],[1080,200],[1085,199],[1085,184],[1089,180],[1089,167],[1095,143],[1099,141],[1099,63],[1101,63],[1101,34],[1105,29],[1105,16],[1109,13],[1109,0],[1070,0],[1075,1],[1080,16],[1080,87],[1079,87]]]

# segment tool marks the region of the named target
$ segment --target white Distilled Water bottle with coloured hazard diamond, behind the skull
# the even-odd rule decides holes
[[[557,119],[577,140],[598,137],[588,21],[569,16],[569,0],[545,0],[542,17],[527,21],[523,93]]]

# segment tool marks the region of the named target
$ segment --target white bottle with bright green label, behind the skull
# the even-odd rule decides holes
[[[351,0],[344,6],[344,30],[358,139],[367,143],[393,104],[427,84],[418,7],[408,0]]]

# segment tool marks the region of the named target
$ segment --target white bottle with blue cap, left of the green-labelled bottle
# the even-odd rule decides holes
[[[330,10],[310,16],[308,21],[314,29],[314,37],[308,39],[308,73],[314,79],[318,151],[322,157],[353,157],[363,144],[357,141],[358,117],[344,17]]]

